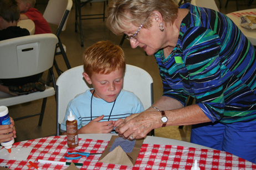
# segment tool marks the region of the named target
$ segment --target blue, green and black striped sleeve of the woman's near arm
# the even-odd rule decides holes
[[[225,107],[219,58],[221,40],[210,29],[193,27],[183,35],[182,42],[188,82],[196,103],[211,121],[219,120]]]

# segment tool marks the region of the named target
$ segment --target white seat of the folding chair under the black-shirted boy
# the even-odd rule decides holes
[[[12,95],[8,95],[6,93],[0,92],[0,99],[1,99],[1,105],[5,105],[8,107],[11,105],[31,102],[33,100],[50,97],[54,94],[55,94],[54,88],[46,86],[45,91],[43,92],[34,92],[27,95],[18,95],[15,97],[13,97]]]

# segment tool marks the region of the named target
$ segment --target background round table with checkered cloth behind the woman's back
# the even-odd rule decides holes
[[[238,26],[238,28],[242,31],[242,33],[249,39],[249,41],[256,46],[256,29],[247,29],[247,28],[243,28],[240,25],[240,15],[241,14],[256,14],[256,8],[254,9],[246,9],[246,10],[239,10],[236,12],[232,12],[227,14],[227,16],[233,20],[233,22],[235,23],[235,25]]]

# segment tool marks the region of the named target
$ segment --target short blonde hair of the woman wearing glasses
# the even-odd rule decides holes
[[[106,24],[112,33],[120,35],[128,29],[127,23],[140,26],[154,10],[162,14],[165,23],[170,23],[177,18],[178,5],[173,0],[113,0]],[[143,26],[152,26],[150,17]]]

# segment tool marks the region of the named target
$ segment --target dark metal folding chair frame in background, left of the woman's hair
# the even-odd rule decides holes
[[[82,20],[85,19],[103,19],[105,20],[105,8],[108,3],[107,0],[74,0],[75,1],[75,31],[80,30],[80,38],[81,38],[81,47],[84,46],[84,36],[83,36],[83,28],[82,28]],[[100,14],[90,14],[90,15],[83,15],[81,14],[81,7],[85,6],[87,3],[94,3],[94,2],[104,2],[103,13]],[[101,17],[98,17],[101,16]]]

